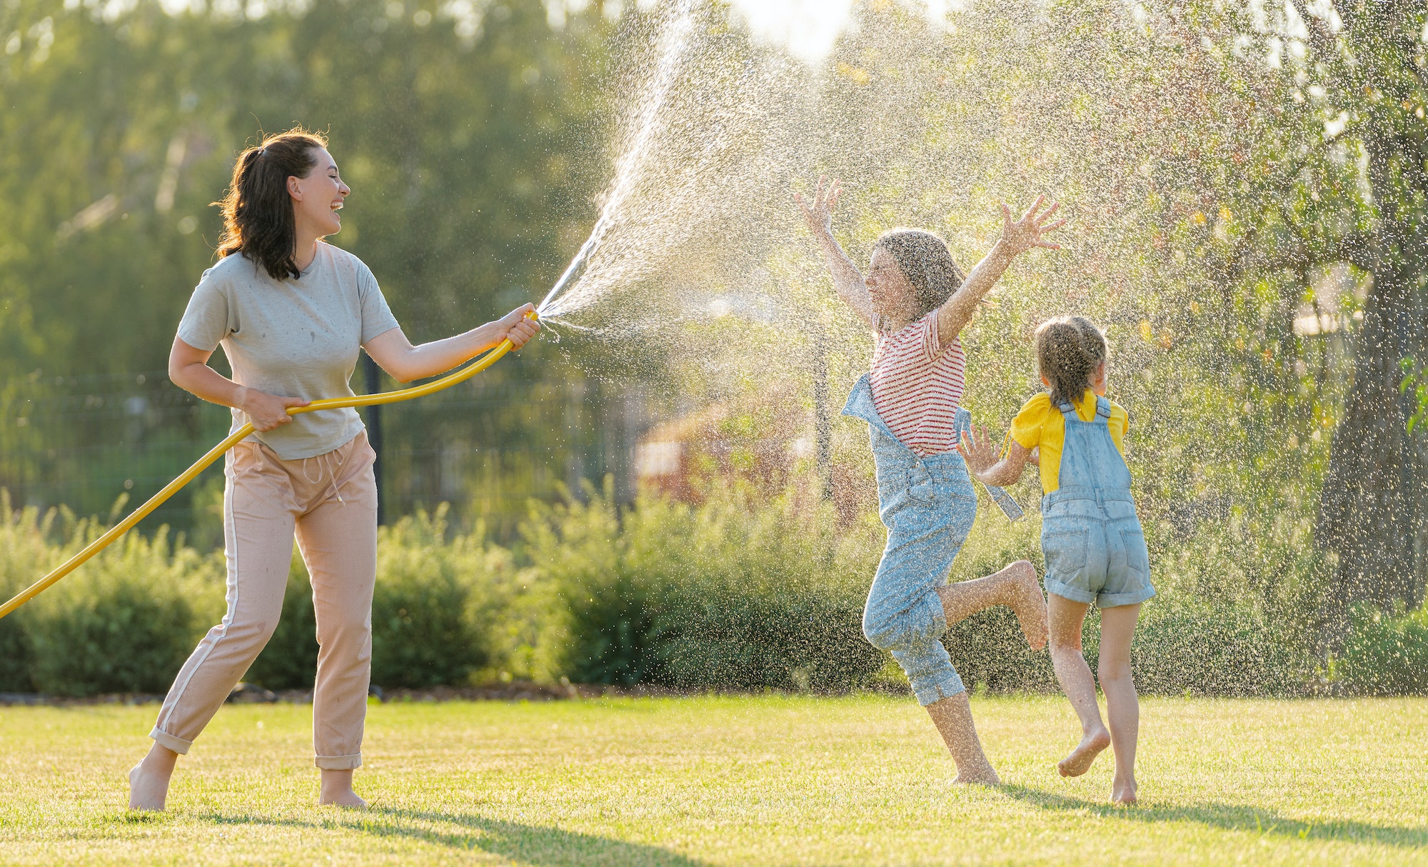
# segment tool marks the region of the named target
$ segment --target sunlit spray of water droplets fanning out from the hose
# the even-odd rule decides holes
[[[967,406],[1005,430],[1040,387],[1031,331],[1051,316],[1088,314],[1108,330],[1112,397],[1135,419],[1132,468],[1155,491],[1148,520],[1185,546],[1205,527],[1222,530],[1257,574],[1299,568],[1287,558],[1307,550],[1308,520],[1259,533],[1231,506],[1305,514],[1309,463],[1281,450],[1271,476],[1235,466],[1267,436],[1317,437],[1308,413],[1244,417],[1247,397],[1231,397],[1240,386],[1217,357],[1237,329],[1255,340],[1269,319],[1295,313],[1284,309],[1292,300],[1238,321],[1214,313],[1228,289],[1207,263],[1242,230],[1224,173],[1265,159],[1255,156],[1262,126],[1235,101],[1244,80],[1230,81],[1222,54],[1204,47],[1234,34],[1147,23],[1118,3],[987,3],[944,26],[870,3],[833,56],[810,66],[723,16],[683,0],[644,36],[654,50],[628,89],[614,180],[544,316],[618,349],[590,356],[618,354],[663,383],[671,416],[764,400],[793,404],[811,427],[814,410],[827,416],[867,370],[871,339],[835,297],[793,191],[820,174],[843,179],[834,229],[861,266],[881,231],[917,226],[945,237],[964,271],[995,241],[1000,201],[1020,210],[1045,193],[1071,220],[1057,239],[1064,249],[1020,259],[995,306],[964,331]],[[1274,90],[1287,76],[1245,70],[1257,99],[1287,99]],[[1261,387],[1298,387],[1285,381]],[[864,437],[835,427],[833,460],[865,463]],[[1024,503],[1040,496],[1028,478]],[[1197,544],[1222,554],[1230,536]],[[1248,597],[1257,580],[1227,593]]]

